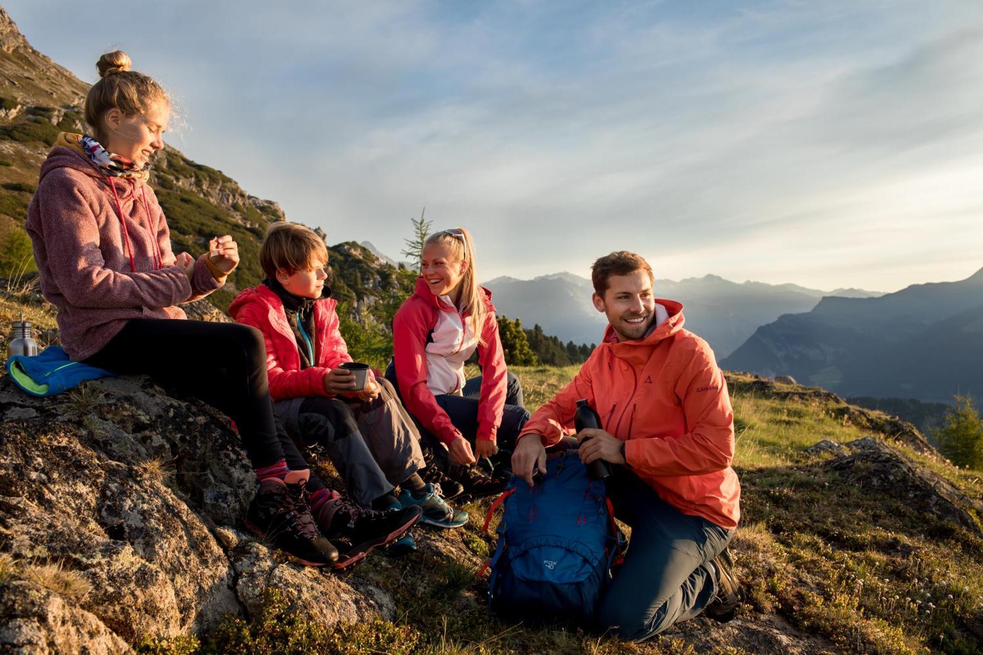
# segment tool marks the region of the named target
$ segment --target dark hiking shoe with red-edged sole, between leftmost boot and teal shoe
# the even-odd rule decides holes
[[[420,519],[420,507],[376,511],[357,506],[337,493],[314,510],[321,531],[342,545],[334,568],[347,568],[365,559],[377,546],[399,539]]]

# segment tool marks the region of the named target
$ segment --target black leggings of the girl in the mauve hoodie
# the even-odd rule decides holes
[[[254,468],[283,460],[286,444],[296,450],[273,423],[266,347],[255,327],[134,319],[86,364],[123,375],[145,374],[211,404],[236,422]],[[299,453],[297,458],[303,461]]]

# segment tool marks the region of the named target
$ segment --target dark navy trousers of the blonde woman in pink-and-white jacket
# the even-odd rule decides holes
[[[396,383],[396,367],[392,362],[389,362],[389,366],[385,370],[385,378],[392,383],[392,386],[397,391],[399,390],[399,386]],[[499,448],[511,450],[515,447],[515,440],[522,431],[522,426],[529,420],[530,414],[529,410],[522,405],[522,385],[519,384],[519,379],[512,373],[507,373],[506,379],[508,382],[505,392],[505,406],[502,408],[501,425],[498,426],[495,444]],[[478,376],[477,378],[472,378],[464,385],[464,388],[461,389],[461,395],[451,395],[449,393],[434,395],[436,404],[443,411],[447,412],[450,422],[454,424],[455,428],[461,431],[461,434],[468,440],[472,448],[475,447],[478,441],[478,403],[481,398],[481,392],[482,376]],[[450,458],[446,456],[446,448],[434,447],[440,445],[441,442],[426,428],[420,426],[419,421],[417,421],[417,427],[420,428],[420,436],[424,444],[434,448],[434,454],[437,456],[438,462],[442,464],[441,468],[447,470],[446,464]],[[446,462],[442,461],[444,458],[447,460]]]

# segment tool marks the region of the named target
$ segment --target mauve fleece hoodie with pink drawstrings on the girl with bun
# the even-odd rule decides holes
[[[167,221],[153,190],[140,180],[116,177],[113,182],[136,272],[109,178],[84,152],[51,149],[28,208],[25,227],[41,293],[58,308],[62,346],[76,361],[97,353],[132,319],[186,319],[175,305],[202,298],[225,281],[224,275],[216,279],[212,274],[205,254],[189,282],[175,265]],[[154,239],[159,269],[154,267]]]

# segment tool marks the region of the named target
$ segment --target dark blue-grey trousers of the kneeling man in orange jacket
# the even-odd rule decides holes
[[[614,515],[631,526],[631,541],[599,609],[599,627],[641,641],[699,615],[717,594],[707,562],[733,530],[683,514],[622,466],[607,479]]]

